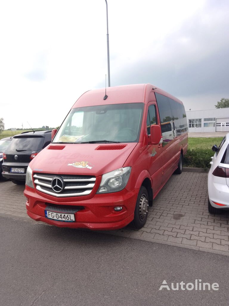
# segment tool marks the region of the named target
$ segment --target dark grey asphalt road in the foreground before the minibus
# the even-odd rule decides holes
[[[228,305],[228,256],[0,217],[0,305]],[[159,291],[163,280],[219,291]]]

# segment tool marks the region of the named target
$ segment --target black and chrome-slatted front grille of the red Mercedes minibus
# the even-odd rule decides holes
[[[34,173],[33,177],[38,191],[57,197],[89,195],[96,181],[96,177],[90,175]],[[61,192],[56,192],[51,186],[54,177],[64,180],[64,189]]]

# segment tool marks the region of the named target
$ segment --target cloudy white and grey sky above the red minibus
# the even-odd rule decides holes
[[[227,0],[107,0],[111,86],[151,83],[185,109],[229,98]],[[105,85],[104,0],[1,3],[0,117],[5,128],[56,127]]]

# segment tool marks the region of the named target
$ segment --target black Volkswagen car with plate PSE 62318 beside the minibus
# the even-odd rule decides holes
[[[14,184],[24,184],[28,164],[51,142],[52,131],[23,132],[3,153],[2,175]]]

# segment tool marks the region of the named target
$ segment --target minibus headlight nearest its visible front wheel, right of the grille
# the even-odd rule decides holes
[[[129,180],[130,171],[131,167],[124,167],[103,174],[99,189],[96,193],[121,191],[125,188]]]

